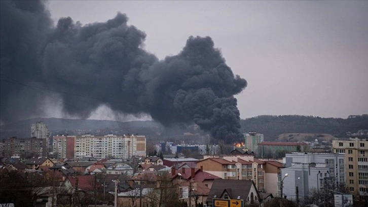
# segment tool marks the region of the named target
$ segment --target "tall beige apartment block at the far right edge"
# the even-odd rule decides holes
[[[335,153],[345,154],[346,185],[356,199],[368,193],[368,138],[333,140]]]

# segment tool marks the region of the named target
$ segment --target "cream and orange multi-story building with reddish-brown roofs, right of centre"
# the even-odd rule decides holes
[[[266,162],[250,155],[206,158],[197,162],[197,167],[222,179],[252,180],[257,189],[265,188]]]

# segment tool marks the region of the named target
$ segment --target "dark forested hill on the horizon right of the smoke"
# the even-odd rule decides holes
[[[355,118],[321,118],[313,116],[263,115],[241,120],[243,132],[263,133],[265,141],[273,141],[282,133],[329,133],[336,137],[345,137],[346,132],[368,129],[368,115]]]

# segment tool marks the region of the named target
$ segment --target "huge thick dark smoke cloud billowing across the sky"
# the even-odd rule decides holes
[[[234,95],[247,83],[234,76],[211,38],[190,37],[179,54],[158,60],[142,49],[146,34],[127,21],[120,13],[88,25],[67,17],[54,27],[41,2],[2,1],[2,120],[42,111],[42,94],[4,81],[10,80],[63,91],[68,115],[87,118],[103,104],[166,126],[196,123],[217,140],[238,141]],[[32,112],[19,110],[25,106]]]

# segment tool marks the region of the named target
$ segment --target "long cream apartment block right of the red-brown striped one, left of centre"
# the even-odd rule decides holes
[[[145,156],[145,136],[78,135],[75,139],[75,158],[91,156],[97,159],[131,159],[132,156]]]

